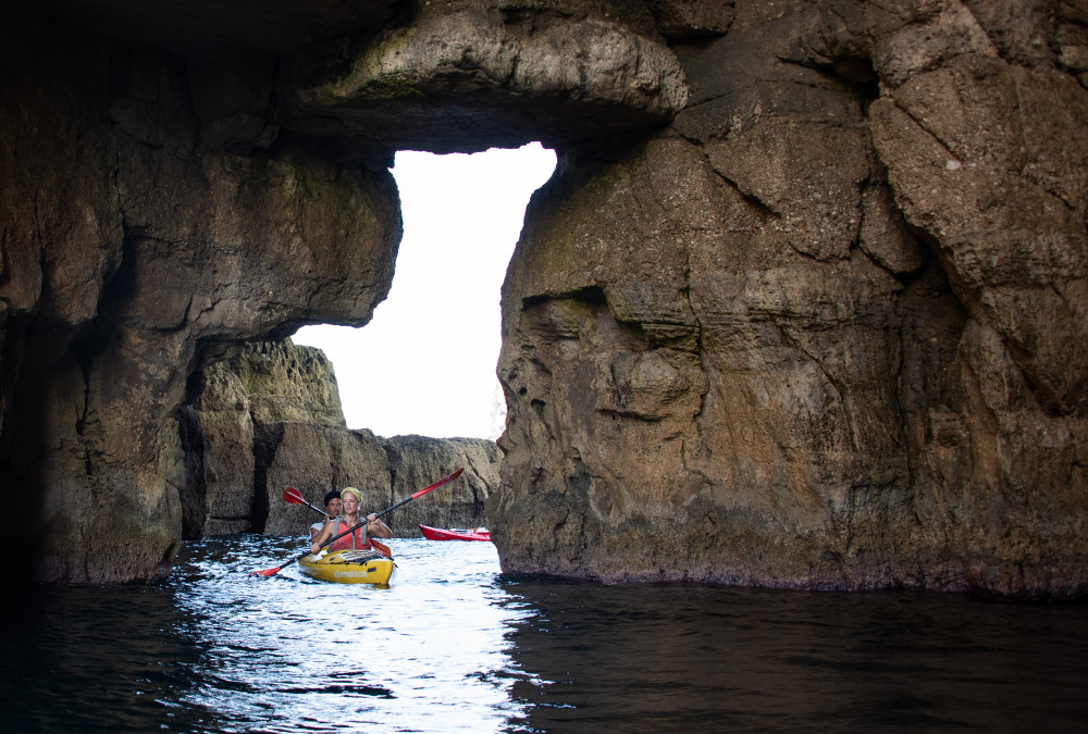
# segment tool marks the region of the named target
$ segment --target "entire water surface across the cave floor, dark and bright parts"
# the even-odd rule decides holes
[[[400,539],[387,589],[300,539],[187,547],[154,587],[35,587],[0,635],[2,732],[1084,731],[1088,606],[506,579]]]

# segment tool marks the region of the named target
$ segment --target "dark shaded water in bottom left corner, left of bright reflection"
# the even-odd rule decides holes
[[[180,633],[170,588],[29,587],[2,619],[3,731],[148,731],[175,716],[170,701],[205,656]],[[183,720],[214,730],[218,717],[196,706]]]

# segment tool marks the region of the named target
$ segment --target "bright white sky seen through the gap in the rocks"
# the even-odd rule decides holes
[[[497,438],[499,290],[529,197],[555,170],[540,144],[471,155],[398,152],[404,239],[388,298],[361,328],[306,326],[336,372],[349,428]]]

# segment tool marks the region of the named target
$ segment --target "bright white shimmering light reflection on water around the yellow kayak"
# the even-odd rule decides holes
[[[201,592],[183,604],[208,620],[205,668],[219,683],[180,702],[269,732],[500,731],[510,714],[503,634],[521,612],[492,604],[503,596],[497,558],[478,545],[399,540],[387,589],[314,582],[295,567],[239,583],[218,577],[231,564],[197,564]],[[277,565],[295,546],[247,568]]]

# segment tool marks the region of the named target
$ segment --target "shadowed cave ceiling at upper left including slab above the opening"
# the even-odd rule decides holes
[[[206,123],[222,128],[233,104],[274,125],[275,136],[300,136],[343,161],[388,165],[396,150],[475,152],[533,140],[567,148],[667,123],[683,108],[683,72],[648,5],[537,5],[41,3],[185,58]],[[254,78],[271,74],[274,88]],[[208,127],[212,148],[272,145],[268,125],[250,125],[248,141]]]

